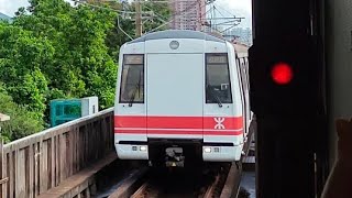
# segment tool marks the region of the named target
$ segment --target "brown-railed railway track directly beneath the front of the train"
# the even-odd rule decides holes
[[[229,173],[233,169],[229,163],[213,164],[201,172],[195,169],[148,170],[138,182],[130,182],[118,188],[109,197],[130,198],[213,198],[231,197],[223,191],[226,185],[232,185]],[[228,184],[227,184],[228,183]],[[139,187],[136,187],[139,186]],[[229,187],[231,188],[231,187]],[[232,189],[232,188],[231,188]],[[233,194],[233,190],[230,191]]]

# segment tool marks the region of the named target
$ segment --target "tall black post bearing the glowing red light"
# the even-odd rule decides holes
[[[256,197],[319,197],[328,168],[322,4],[253,0]]]

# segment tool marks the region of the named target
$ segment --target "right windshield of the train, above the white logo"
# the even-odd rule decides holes
[[[206,102],[232,103],[228,54],[206,57]]]

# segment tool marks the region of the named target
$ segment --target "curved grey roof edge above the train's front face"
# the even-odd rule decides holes
[[[205,41],[213,41],[213,42],[221,42],[221,43],[226,42],[224,40],[221,40],[219,37],[216,37],[199,31],[166,30],[166,31],[158,31],[158,32],[145,34],[139,38],[128,42],[128,44],[145,42],[150,40],[162,40],[162,38],[195,38],[195,40],[205,40]]]

